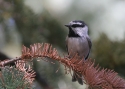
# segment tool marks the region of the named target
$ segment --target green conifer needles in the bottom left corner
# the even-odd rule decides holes
[[[14,67],[1,68],[0,89],[31,89],[24,73]]]

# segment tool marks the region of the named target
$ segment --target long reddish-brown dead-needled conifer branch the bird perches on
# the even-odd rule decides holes
[[[95,66],[95,62],[90,59],[79,60],[75,55],[73,58],[60,57],[58,51],[52,48],[50,44],[34,44],[30,48],[23,46],[22,55],[19,58],[12,59],[31,61],[33,58],[48,57],[56,60],[66,67],[66,72],[76,73],[83,75],[83,80],[93,89],[125,89],[125,80],[118,76],[118,74],[110,69],[101,69],[99,65]],[[10,62],[9,62],[10,63]],[[0,66],[8,64],[6,62],[0,62]]]

